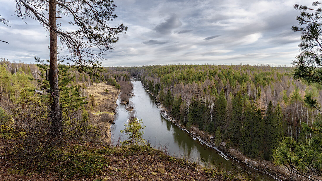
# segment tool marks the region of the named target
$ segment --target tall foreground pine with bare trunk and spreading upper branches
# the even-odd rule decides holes
[[[56,0],[17,0],[17,16],[25,19],[32,17],[49,31],[49,59],[50,59],[50,89],[52,134],[60,136],[62,133],[62,109],[59,100],[59,72],[57,39],[60,38],[62,47],[67,48],[71,57],[65,57],[79,71],[95,73],[101,69],[102,59],[106,51],[113,50],[112,44],[118,41],[116,35],[125,33],[127,27],[123,24],[109,27],[109,21],[117,16],[113,14],[113,1],[67,2]],[[96,7],[96,8],[93,8]],[[58,11],[58,13],[57,13]],[[59,12],[72,17],[70,24],[76,25],[74,31],[57,28],[56,20]],[[97,49],[98,48],[98,49]],[[98,50],[98,51],[97,51]]]

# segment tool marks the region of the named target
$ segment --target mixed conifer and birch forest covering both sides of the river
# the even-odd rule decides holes
[[[1,60],[2,107],[11,103],[23,104],[33,97],[35,89],[38,94],[46,91],[49,83],[44,75],[48,65],[44,61],[42,64],[24,64]],[[252,158],[270,160],[272,150],[283,136],[308,142],[313,135],[303,131],[301,123],[312,127],[313,122],[320,119],[317,110],[306,107],[301,100],[304,95],[312,95],[321,101],[322,92],[315,85],[307,86],[293,80],[291,67],[110,67],[104,68],[99,76],[80,74],[63,64],[59,69],[62,70],[61,76],[65,77],[60,81],[64,106],[76,109],[82,106],[88,96],[84,91],[86,87],[105,81],[125,92],[121,98],[128,101],[132,88],[125,81],[131,75],[137,75],[171,115],[188,129],[194,125],[212,134],[214,141],[229,141]]]

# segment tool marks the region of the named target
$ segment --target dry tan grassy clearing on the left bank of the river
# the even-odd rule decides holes
[[[114,110],[117,107],[116,100],[119,92],[115,86],[106,83],[94,83],[87,88],[88,95],[93,95],[95,99],[95,106],[90,110],[90,123],[101,130],[101,143],[104,145],[111,142],[110,127],[114,122]]]

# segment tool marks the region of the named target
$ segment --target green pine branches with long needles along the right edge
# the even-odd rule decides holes
[[[314,2],[313,6],[322,5],[319,2]],[[293,61],[295,66],[293,69],[293,77],[295,80],[302,80],[308,85],[322,85],[322,54],[321,54],[321,23],[319,16],[321,8],[309,8],[305,5],[294,5],[294,9],[302,11],[300,16],[297,16],[298,26],[292,26],[294,32],[302,32],[299,48],[301,53],[296,56]],[[304,103],[306,106],[321,112],[320,105],[316,99],[313,99],[314,94],[306,91]],[[298,88],[291,95],[290,103],[300,100]],[[305,132],[313,134],[313,137],[308,141],[302,141],[286,137],[280,143],[279,147],[274,149],[273,161],[277,165],[285,165],[291,172],[300,176],[306,177],[309,180],[319,180],[322,176],[322,127],[320,116],[314,122],[315,127],[311,128],[306,123],[302,123]],[[303,139],[302,139],[303,140]]]

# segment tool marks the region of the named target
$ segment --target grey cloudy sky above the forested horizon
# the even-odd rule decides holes
[[[312,1],[313,2],[313,1]],[[115,0],[115,23],[128,26],[104,66],[152,64],[291,65],[298,54],[299,12],[308,0]],[[49,58],[49,32],[33,19],[14,15],[13,0],[0,0],[0,57],[34,62]],[[62,18],[63,19],[63,18]],[[66,21],[60,20],[62,26]],[[66,25],[67,26],[67,25]],[[63,27],[64,28],[64,27]],[[66,50],[59,50],[61,55]]]

